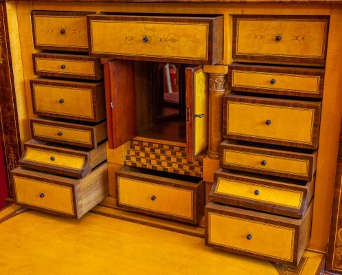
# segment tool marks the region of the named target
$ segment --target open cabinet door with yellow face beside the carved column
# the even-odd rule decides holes
[[[208,146],[207,75],[202,66],[185,69],[187,159],[194,160]]]

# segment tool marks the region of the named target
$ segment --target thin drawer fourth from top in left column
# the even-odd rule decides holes
[[[96,148],[107,138],[106,121],[91,125],[36,117],[30,124],[32,138],[36,140]]]

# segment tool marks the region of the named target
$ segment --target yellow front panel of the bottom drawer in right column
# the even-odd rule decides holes
[[[208,243],[271,259],[293,261],[295,229],[208,212]]]

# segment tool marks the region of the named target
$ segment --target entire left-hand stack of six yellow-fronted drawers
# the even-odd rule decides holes
[[[77,219],[108,195],[103,69],[99,58],[76,54],[88,51],[87,14],[32,12],[34,47],[63,52],[33,55],[41,116],[30,120],[34,140],[12,170],[17,203]]]

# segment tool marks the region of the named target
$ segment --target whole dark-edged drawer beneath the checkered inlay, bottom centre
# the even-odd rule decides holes
[[[203,217],[205,185],[198,177],[130,166],[115,177],[120,208],[194,224]]]

